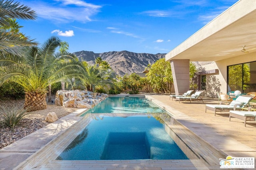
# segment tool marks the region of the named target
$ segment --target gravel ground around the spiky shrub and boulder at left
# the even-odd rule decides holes
[[[46,99],[47,101],[47,99]],[[5,105],[13,106],[14,104],[23,105],[24,100],[4,100]],[[0,149],[22,139],[23,137],[37,131],[38,129],[50,124],[44,121],[46,115],[50,112],[55,112],[60,119],[76,111],[76,108],[66,108],[62,106],[55,106],[52,103],[47,103],[47,109],[31,111],[30,115],[24,118],[18,126],[14,127],[14,129],[10,129],[8,127],[0,127]]]

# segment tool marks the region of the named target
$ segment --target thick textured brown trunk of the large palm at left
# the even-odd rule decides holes
[[[46,109],[46,94],[47,93],[25,92],[25,108],[28,109],[28,111]]]

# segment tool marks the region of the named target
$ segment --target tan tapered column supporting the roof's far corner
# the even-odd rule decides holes
[[[189,90],[189,60],[171,60],[175,95]]]

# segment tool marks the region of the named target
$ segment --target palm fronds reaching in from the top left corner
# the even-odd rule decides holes
[[[0,53],[13,53],[20,55],[22,47],[37,45],[30,37],[20,36],[6,30],[12,27],[10,19],[35,20],[36,12],[28,6],[21,5],[13,0],[0,0]],[[15,22],[14,22],[15,23]],[[16,25],[17,26],[17,25]]]

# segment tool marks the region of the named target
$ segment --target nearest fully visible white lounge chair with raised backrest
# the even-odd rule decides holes
[[[220,104],[206,104],[205,106],[205,113],[206,110],[214,111],[214,115],[216,116],[216,111],[229,111],[229,110],[236,110],[242,109],[243,107],[248,107],[248,103],[252,100],[251,96],[238,96],[236,100],[233,100],[230,104],[222,104],[225,102],[220,102]]]

